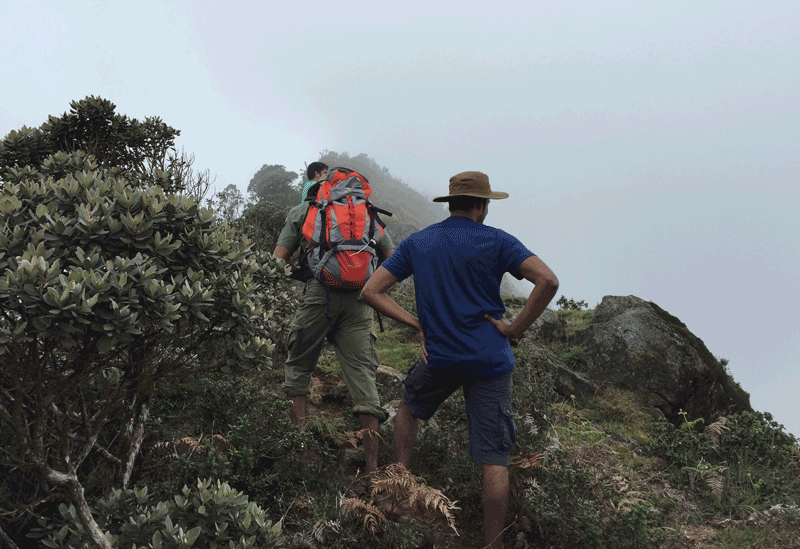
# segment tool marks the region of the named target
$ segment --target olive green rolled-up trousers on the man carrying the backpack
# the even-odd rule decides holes
[[[327,338],[336,350],[342,377],[353,399],[353,414],[368,414],[383,422],[389,414],[380,405],[375,372],[380,360],[372,332],[372,308],[358,291],[306,282],[289,332],[289,357],[284,365],[283,392],[308,395],[311,374]]]

